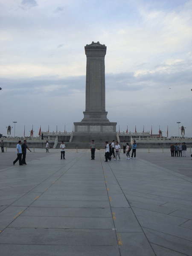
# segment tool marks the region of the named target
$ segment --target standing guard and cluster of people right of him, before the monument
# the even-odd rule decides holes
[[[94,143],[95,140],[92,140],[92,143],[90,144],[90,151],[91,151],[91,160],[95,160],[95,150],[96,150],[96,145]],[[109,144],[108,141],[105,141],[105,162],[111,161],[111,158],[115,158],[115,161],[117,159],[117,156],[119,157],[118,160],[120,160],[120,145],[119,143],[116,141],[116,145],[115,145],[115,140],[113,140],[112,143]],[[137,144],[136,141],[134,140],[134,143],[132,145],[132,155],[131,158],[136,157],[136,148],[137,148]],[[127,150],[126,150],[127,149]],[[125,152],[126,151],[126,152]],[[130,154],[129,152],[131,151],[131,148],[129,146],[128,143],[125,143],[125,141],[123,142],[123,153],[127,155],[127,160],[130,159]]]

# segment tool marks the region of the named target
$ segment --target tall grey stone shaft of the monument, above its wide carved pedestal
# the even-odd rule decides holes
[[[86,103],[84,122],[109,122],[105,111],[105,55],[107,47],[99,42],[87,44]]]

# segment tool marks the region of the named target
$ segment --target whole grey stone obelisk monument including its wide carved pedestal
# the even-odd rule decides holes
[[[116,122],[109,122],[105,111],[105,55],[107,47],[99,42],[87,44],[86,103],[84,118],[74,122],[76,135],[114,135]]]

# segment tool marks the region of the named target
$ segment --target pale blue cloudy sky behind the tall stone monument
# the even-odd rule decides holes
[[[85,111],[84,46],[105,55],[117,131],[192,137],[192,0],[0,0],[0,133],[73,130]]]

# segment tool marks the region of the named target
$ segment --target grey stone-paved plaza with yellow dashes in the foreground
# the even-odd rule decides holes
[[[33,152],[35,151],[35,152]],[[0,153],[0,256],[192,256],[192,160],[138,149]]]

